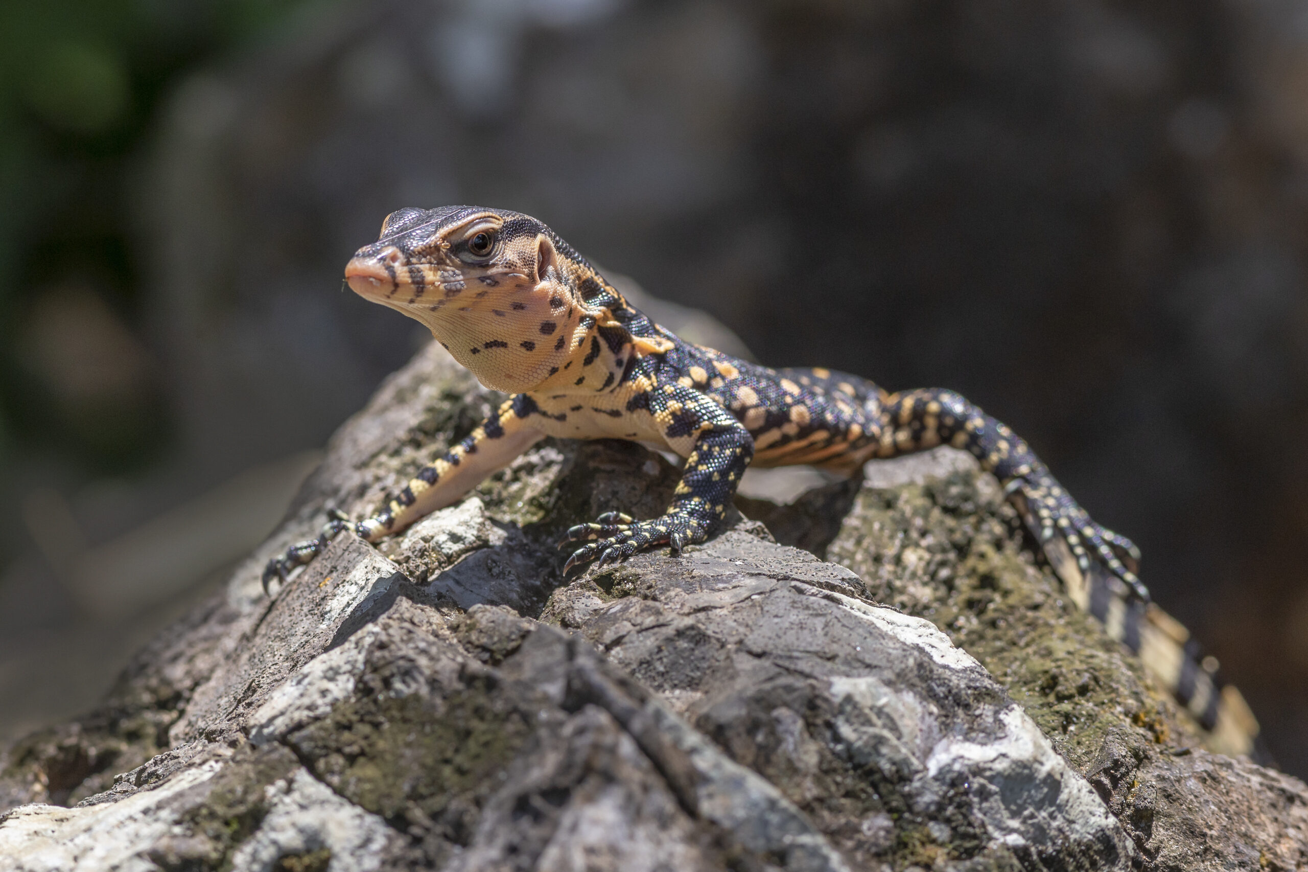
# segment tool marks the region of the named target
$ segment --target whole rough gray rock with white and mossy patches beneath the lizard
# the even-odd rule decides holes
[[[561,530],[676,470],[547,441],[262,596],[496,399],[436,346],[396,373],[221,596],[5,752],[0,869],[1308,864],[1308,790],[1198,749],[950,454],[569,581]]]

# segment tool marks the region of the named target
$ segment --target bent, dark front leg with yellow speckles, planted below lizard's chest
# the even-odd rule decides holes
[[[678,391],[681,393],[681,391]],[[661,517],[637,521],[620,512],[602,515],[594,524],[578,524],[560,543],[586,542],[564,564],[573,567],[599,558],[596,567],[654,545],[668,543],[679,554],[687,545],[704,542],[721,526],[735,496],[740,477],[753,458],[753,437],[721,406],[698,393],[684,391],[666,405],[655,419],[671,444],[693,439],[672,504]]]

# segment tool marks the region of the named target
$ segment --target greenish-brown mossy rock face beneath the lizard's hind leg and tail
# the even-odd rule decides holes
[[[858,572],[878,601],[950,634],[1080,771],[1114,728],[1150,744],[1197,744],[1139,661],[1037,566],[989,475],[865,487],[827,556]]]

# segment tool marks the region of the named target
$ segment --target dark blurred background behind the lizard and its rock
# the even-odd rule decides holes
[[[0,738],[93,704],[532,213],[774,365],[950,386],[1144,551],[1308,775],[1308,7],[0,4]]]

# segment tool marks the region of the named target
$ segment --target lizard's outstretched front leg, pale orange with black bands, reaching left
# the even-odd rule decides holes
[[[317,539],[297,542],[281,556],[268,562],[263,571],[264,593],[272,579],[285,581],[293,568],[313,560],[341,530],[352,529],[369,542],[375,542],[458,500],[487,475],[508,466],[532,443],[544,437],[544,433],[530,426],[528,419],[535,411],[535,403],[518,394],[500,406],[494,415],[445,457],[420,469],[404,490],[373,517],[351,521],[344,515],[332,512]]]

